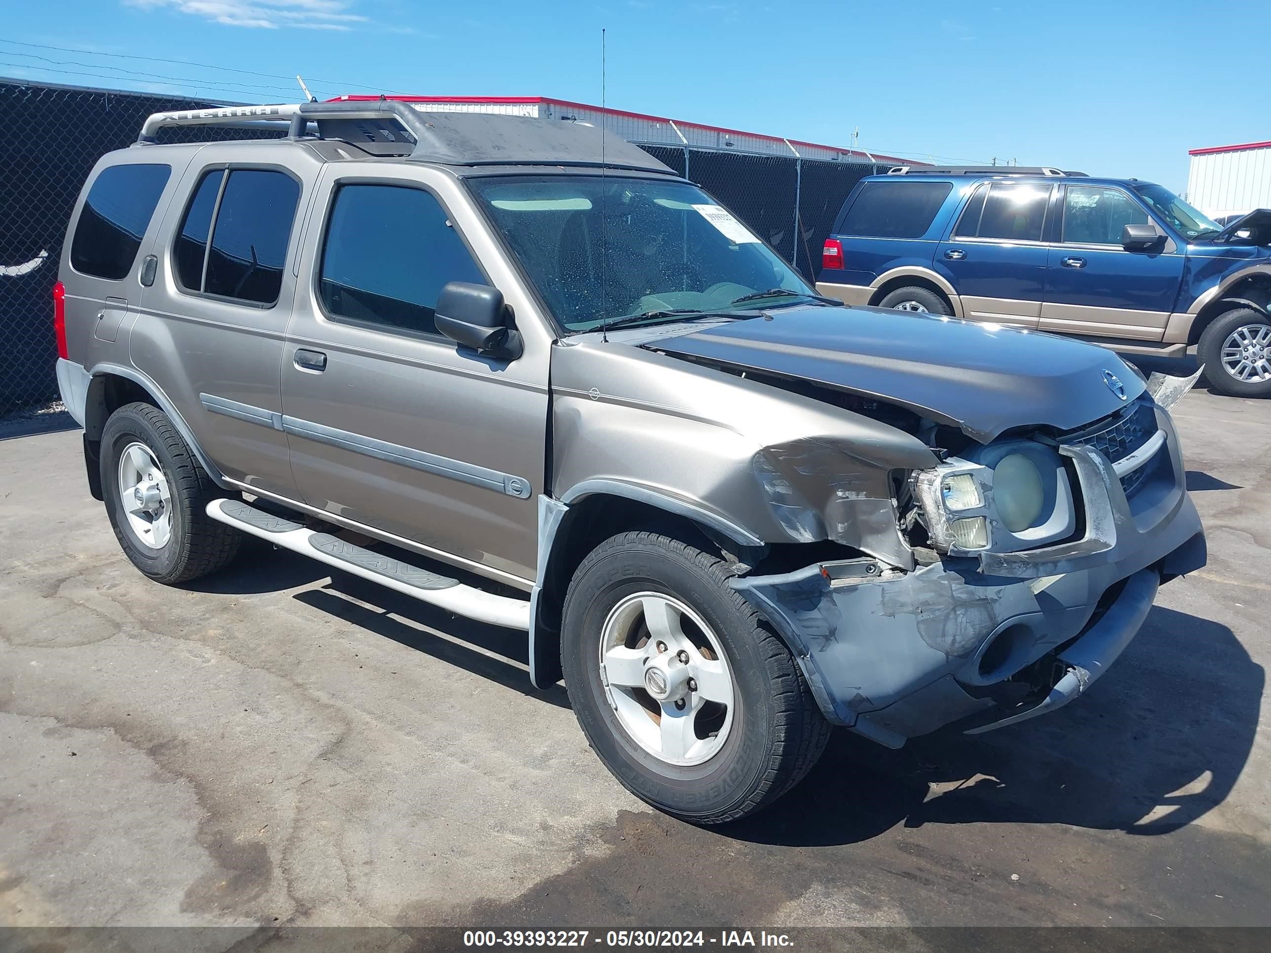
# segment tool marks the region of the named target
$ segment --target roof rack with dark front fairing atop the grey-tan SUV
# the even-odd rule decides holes
[[[426,104],[372,102],[235,105],[154,113],[137,145],[153,145],[172,126],[254,126],[289,123],[287,139],[339,140],[381,156],[442,165],[569,165],[675,172],[622,136],[590,123],[540,122],[487,113],[430,113]]]

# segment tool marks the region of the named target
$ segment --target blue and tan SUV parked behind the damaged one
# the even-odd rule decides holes
[[[848,196],[817,288],[1129,355],[1195,347],[1215,390],[1271,395],[1268,210],[1224,229],[1138,179],[900,166]]]

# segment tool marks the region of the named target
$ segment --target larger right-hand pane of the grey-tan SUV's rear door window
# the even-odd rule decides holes
[[[262,305],[278,300],[299,198],[299,183],[285,173],[230,170],[207,257],[208,295]]]

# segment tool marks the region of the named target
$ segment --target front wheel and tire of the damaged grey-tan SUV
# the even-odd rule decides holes
[[[561,663],[587,741],[633,794],[693,823],[771,803],[816,764],[830,726],[724,563],[652,532],[578,567]]]

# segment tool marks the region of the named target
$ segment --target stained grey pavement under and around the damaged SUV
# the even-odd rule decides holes
[[[563,689],[530,686],[524,635],[263,545],[154,585],[78,431],[0,440],[0,923],[239,928],[198,949],[275,926],[1271,925],[1271,402],[1199,390],[1174,417],[1209,565],[1084,698],[901,751],[836,733],[717,828],[619,787]]]

